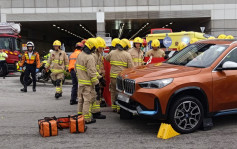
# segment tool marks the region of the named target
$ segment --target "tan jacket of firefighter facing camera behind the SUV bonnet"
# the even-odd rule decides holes
[[[143,51],[140,49],[137,49],[135,47],[131,48],[128,53],[130,53],[130,55],[132,56],[132,60],[134,63],[134,66],[141,66],[143,65]]]

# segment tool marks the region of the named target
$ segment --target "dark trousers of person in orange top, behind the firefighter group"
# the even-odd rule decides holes
[[[72,78],[72,91],[71,91],[71,101],[76,101],[77,93],[78,93],[78,79],[77,74],[74,69],[71,70],[71,78]]]

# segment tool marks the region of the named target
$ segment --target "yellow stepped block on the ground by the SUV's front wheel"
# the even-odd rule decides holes
[[[169,139],[180,135],[177,133],[170,124],[161,123],[157,138]]]

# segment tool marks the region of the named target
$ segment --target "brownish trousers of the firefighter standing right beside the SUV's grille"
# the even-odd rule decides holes
[[[116,91],[116,79],[110,78],[110,94],[111,94],[111,103],[112,103],[112,110],[113,111],[120,111],[120,107],[115,104],[117,91]]]

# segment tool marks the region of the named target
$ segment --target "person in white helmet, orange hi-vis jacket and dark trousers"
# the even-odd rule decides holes
[[[22,60],[19,64],[20,70],[24,64],[26,64],[25,76],[24,76],[24,88],[21,89],[22,92],[27,92],[27,82],[29,75],[31,74],[33,81],[33,92],[36,92],[36,73],[40,68],[40,57],[38,52],[35,52],[35,46],[32,41],[26,43],[27,51],[24,53]]]

